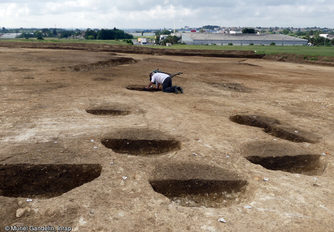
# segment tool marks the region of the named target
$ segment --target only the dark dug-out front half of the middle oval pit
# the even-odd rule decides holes
[[[158,155],[180,149],[176,140],[104,139],[101,143],[116,153],[135,156]]]

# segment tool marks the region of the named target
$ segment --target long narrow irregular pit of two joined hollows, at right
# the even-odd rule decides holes
[[[264,132],[272,136],[296,143],[316,143],[319,141],[319,138],[312,135],[311,133],[306,133],[301,130],[296,132],[296,129],[283,127],[280,125],[281,123],[278,120],[269,117],[255,115],[234,115],[230,117],[230,120],[242,125],[263,128]]]

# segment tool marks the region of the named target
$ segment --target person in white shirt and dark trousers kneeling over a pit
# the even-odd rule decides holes
[[[177,93],[178,91],[180,91],[181,93],[183,93],[183,89],[180,87],[180,86],[172,86],[171,85],[171,77],[165,73],[162,73],[162,72],[157,72],[157,73],[154,73],[154,72],[151,72],[150,73],[150,84],[148,86],[146,86],[145,88],[146,89],[149,89],[151,87],[151,85],[154,83],[154,82],[157,82],[158,83],[158,88],[160,87],[160,85],[162,84],[163,85],[163,92],[166,92],[166,93]],[[156,88],[156,87],[154,87]]]

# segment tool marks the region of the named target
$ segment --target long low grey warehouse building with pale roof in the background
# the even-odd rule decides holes
[[[307,45],[307,39],[285,34],[222,34],[222,33],[182,33],[182,42],[186,44],[216,45]]]

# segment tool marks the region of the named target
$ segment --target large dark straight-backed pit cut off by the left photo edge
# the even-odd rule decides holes
[[[0,166],[0,195],[53,198],[99,177],[99,164],[6,164]]]

